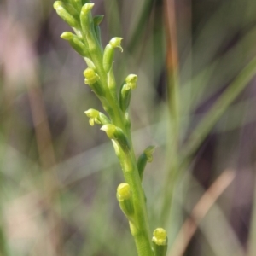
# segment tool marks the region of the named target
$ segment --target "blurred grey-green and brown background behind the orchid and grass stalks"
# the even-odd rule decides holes
[[[0,3],[0,253],[136,255],[115,196],[123,182],[118,160],[105,133],[84,115],[102,107],[84,84],[83,59],[60,38],[70,28],[52,5]],[[124,38],[124,53],[115,54],[118,84],[129,73],[138,75],[130,110],[136,153],[157,145],[143,181],[152,230],[159,225],[169,157],[166,14],[176,27],[171,33],[177,44],[182,143],[256,56],[254,0],[178,0],[171,7],[172,0],[96,0],[93,9],[105,15],[103,45],[114,36]],[[180,173],[166,227],[168,256],[256,255],[255,97],[252,79]],[[198,205],[210,187],[214,200]],[[200,221],[190,219],[178,236],[193,209]],[[172,244],[180,246],[171,250]]]

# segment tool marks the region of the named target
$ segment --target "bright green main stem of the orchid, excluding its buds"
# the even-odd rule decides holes
[[[102,53],[97,52],[94,55],[90,52],[90,55],[92,60],[97,63],[97,72],[101,77],[104,88],[108,88],[107,73],[104,71],[101,64]],[[136,156],[132,147],[131,131],[130,128],[125,125],[125,114],[119,108],[119,105],[114,100],[109,90],[106,90],[106,102],[108,102],[110,109],[106,108],[105,110],[112,119],[113,125],[116,125],[124,131],[131,147],[129,153],[123,153],[119,156],[125,181],[131,186],[135,219],[137,220],[135,225],[130,225],[132,226],[131,234],[136,243],[138,256],[154,256],[143,187],[137,170]],[[106,106],[106,102],[102,102],[103,106]]]

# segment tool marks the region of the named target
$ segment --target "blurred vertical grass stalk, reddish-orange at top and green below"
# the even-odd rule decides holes
[[[178,147],[180,130],[180,96],[179,96],[179,72],[177,55],[177,33],[175,20],[174,1],[165,1],[165,20],[166,20],[166,73],[168,84],[168,103],[169,103],[169,129],[167,143],[167,177],[164,186],[164,201],[161,209],[160,220],[166,224],[169,218],[172,205],[172,193],[177,181],[178,172]]]

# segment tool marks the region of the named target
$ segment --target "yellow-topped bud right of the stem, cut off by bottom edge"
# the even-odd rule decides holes
[[[153,246],[155,256],[166,256],[167,252],[167,233],[166,230],[158,228],[153,233]]]

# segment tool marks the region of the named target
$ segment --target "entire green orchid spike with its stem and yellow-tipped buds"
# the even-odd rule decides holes
[[[166,231],[154,230],[150,239],[148,213],[142,187],[143,171],[147,162],[153,160],[154,146],[149,146],[138,159],[131,142],[131,121],[129,105],[131,90],[137,88],[137,75],[129,74],[117,93],[113,73],[113,55],[115,49],[123,51],[123,38],[112,38],[103,49],[100,24],[103,15],[92,16],[94,3],[88,0],[56,1],[54,8],[62,20],[73,28],[73,32],[63,32],[61,38],[84,58],[87,68],[84,70],[84,83],[102,102],[105,113],[90,108],[85,111],[90,125],[102,125],[101,130],[113,142],[113,148],[119,158],[125,183],[117,189],[119,206],[129,221],[134,236],[138,256],[165,256],[167,248]]]

